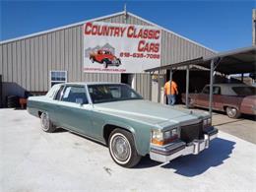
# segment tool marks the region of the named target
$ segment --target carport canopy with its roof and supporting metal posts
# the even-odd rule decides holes
[[[180,63],[173,63],[152,69],[146,72],[154,72],[160,70],[170,71],[170,81],[172,80],[172,69],[186,66],[186,106],[188,107],[188,88],[189,88],[189,68],[191,65],[198,65],[210,70],[210,96],[209,96],[209,112],[212,115],[213,101],[213,76],[214,71],[218,71],[225,75],[244,74],[256,72],[256,46],[238,48],[230,51],[216,53],[209,57],[199,57]],[[159,85],[160,86],[160,85]]]

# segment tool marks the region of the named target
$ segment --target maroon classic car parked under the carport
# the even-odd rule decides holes
[[[210,86],[199,94],[189,94],[189,105],[209,107]],[[182,95],[185,102],[185,95]],[[213,109],[225,111],[230,118],[238,118],[241,113],[256,115],[256,88],[244,84],[214,84]]]

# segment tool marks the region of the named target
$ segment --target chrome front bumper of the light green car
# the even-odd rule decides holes
[[[180,156],[197,155],[205,149],[209,148],[210,141],[217,138],[218,129],[212,128],[205,132],[204,139],[194,140],[186,144],[181,140],[177,140],[163,147],[151,144],[150,157],[152,160],[166,162],[174,160]]]

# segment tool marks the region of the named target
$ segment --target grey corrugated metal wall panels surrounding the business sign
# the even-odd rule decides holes
[[[107,23],[147,25],[138,18],[123,15],[100,20]],[[67,70],[69,82],[120,82],[120,74],[83,72],[83,26],[47,32],[0,44],[2,81],[17,84],[32,92],[49,89],[49,71]],[[161,31],[161,65],[212,54],[197,44],[170,32]],[[136,74],[136,90],[150,98],[149,74]]]

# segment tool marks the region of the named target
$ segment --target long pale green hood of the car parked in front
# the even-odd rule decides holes
[[[144,99],[123,100],[94,104],[97,111],[164,128],[183,121],[198,120],[207,112],[196,113],[188,109],[164,105]]]

